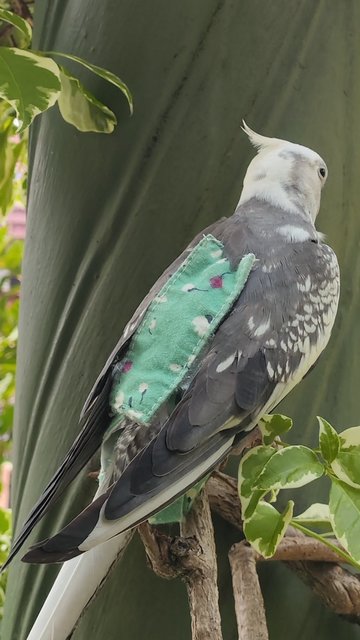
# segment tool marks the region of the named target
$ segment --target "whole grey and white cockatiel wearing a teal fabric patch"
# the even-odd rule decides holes
[[[140,304],[14,542],[8,562],[101,447],[93,502],[24,557],[80,556],[60,571],[31,639],[66,638],[126,532],[214,469],[328,343],[340,285],[336,256],[315,228],[326,164],[307,147],[243,129],[257,155],[235,213],[200,233]]]

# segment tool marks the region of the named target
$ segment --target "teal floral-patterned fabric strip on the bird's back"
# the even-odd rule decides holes
[[[212,235],[189,253],[150,304],[119,364],[111,395],[117,423],[121,416],[151,421],[239,296],[254,261],[247,254],[232,271]]]

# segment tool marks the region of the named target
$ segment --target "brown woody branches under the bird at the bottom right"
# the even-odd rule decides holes
[[[242,443],[242,449],[252,444],[253,437]],[[237,482],[220,471],[213,473],[206,490],[198,497],[182,526],[182,537],[169,538],[148,524],[139,527],[154,571],[165,578],[180,576],[186,583],[193,640],[222,638],[216,554],[208,499],[214,511],[242,532]],[[264,603],[256,571],[256,563],[264,561],[264,558],[243,541],[232,547],[229,560],[239,638],[268,640]],[[270,560],[285,562],[327,607],[349,621],[360,624],[360,576],[339,566],[339,558],[331,549],[289,527],[286,537]]]

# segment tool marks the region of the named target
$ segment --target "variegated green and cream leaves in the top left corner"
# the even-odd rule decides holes
[[[80,131],[111,133],[116,116],[95,98],[84,85],[52,56],[62,56],[85,67],[106,82],[115,85],[126,97],[130,113],[131,93],[114,73],[70,54],[28,51],[32,29],[29,21],[0,7],[0,20],[10,23],[20,35],[14,46],[0,46],[0,98],[13,107],[18,130],[26,129],[33,119],[58,102],[64,120]],[[13,40],[12,40],[13,41]]]

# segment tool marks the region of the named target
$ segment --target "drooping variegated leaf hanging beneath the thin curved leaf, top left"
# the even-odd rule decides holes
[[[116,125],[115,114],[64,67],[60,67],[60,79],[58,106],[64,120],[79,131],[111,133]]]

